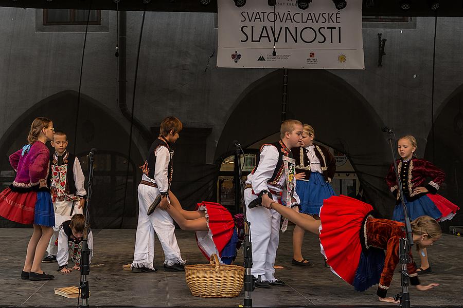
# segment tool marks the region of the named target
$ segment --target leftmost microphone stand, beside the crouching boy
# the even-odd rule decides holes
[[[90,255],[92,249],[88,248],[88,225],[90,222],[90,216],[88,215],[90,200],[92,198],[92,181],[93,181],[93,150],[88,153],[88,183],[87,183],[87,208],[85,213],[85,228],[82,240],[82,255],[80,260],[80,286],[79,286],[79,299],[82,298],[82,304],[79,305],[79,299],[77,301],[77,307],[88,308],[88,297],[90,296],[90,286],[88,284],[87,275],[90,274]]]

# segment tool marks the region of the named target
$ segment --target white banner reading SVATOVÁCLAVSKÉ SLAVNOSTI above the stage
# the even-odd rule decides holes
[[[365,69],[362,0],[218,0],[218,67]],[[275,52],[274,46],[275,44]],[[274,55],[275,54],[275,55]]]

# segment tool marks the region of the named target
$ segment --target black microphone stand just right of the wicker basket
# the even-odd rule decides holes
[[[243,256],[244,256],[244,304],[245,308],[251,308],[253,306],[253,299],[251,292],[254,291],[254,283],[257,280],[253,274],[251,274],[251,268],[253,267],[253,249],[252,249],[252,241],[251,241],[251,223],[247,221],[246,218],[246,204],[244,202],[244,185],[243,185],[243,175],[241,172],[241,162],[240,162],[240,155],[241,153],[244,155],[244,151],[241,148],[239,143],[235,144],[236,147],[236,154],[235,160],[238,164],[238,175],[239,179],[237,179],[236,184],[239,183],[240,189],[240,197],[241,197],[241,204],[243,206],[243,217],[244,217],[244,240],[243,240]],[[238,185],[236,185],[238,186]],[[238,189],[236,187],[235,189]],[[260,277],[259,277],[260,278]]]

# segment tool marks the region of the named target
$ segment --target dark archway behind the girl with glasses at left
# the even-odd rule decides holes
[[[54,122],[55,129],[68,135],[68,149],[85,158],[91,148],[98,148],[95,158],[95,178],[91,217],[94,228],[135,227],[137,223],[136,183],[141,177],[138,167],[143,162],[140,149],[133,142],[129,159],[129,134],[111,110],[98,101],[81,94],[75,143],[77,92],[66,90],[54,94],[24,112],[0,139],[0,170],[11,175],[8,155],[27,143],[30,123],[36,117],[47,117]],[[75,147],[76,145],[76,147]],[[49,146],[50,147],[50,146]],[[51,147],[50,147],[51,148]],[[85,161],[81,159],[84,174]],[[127,170],[129,173],[127,174]],[[9,173],[8,173],[9,172]],[[14,178],[14,174],[13,178]],[[7,179],[3,179],[8,183]],[[12,181],[12,179],[11,179]],[[127,183],[127,192],[126,192]],[[9,183],[8,183],[9,184]],[[0,226],[21,226],[6,220]]]

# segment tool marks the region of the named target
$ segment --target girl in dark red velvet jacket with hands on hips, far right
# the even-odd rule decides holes
[[[403,199],[407,207],[408,217],[414,220],[427,215],[438,222],[452,219],[458,210],[458,206],[437,194],[437,190],[444,181],[446,174],[431,162],[414,157],[416,139],[413,136],[400,138],[398,151],[401,159],[397,161],[397,169],[402,182]],[[390,191],[399,200],[399,187],[394,164],[390,166],[386,183]],[[394,208],[392,219],[404,221],[403,207],[399,201]],[[420,259],[421,265],[418,268],[418,273],[432,273],[426,248],[420,249]]]

